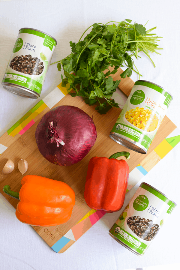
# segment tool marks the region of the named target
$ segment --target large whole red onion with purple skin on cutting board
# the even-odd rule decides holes
[[[83,110],[59,106],[43,116],[35,137],[44,158],[57,165],[70,166],[88,154],[97,132],[93,120]]]

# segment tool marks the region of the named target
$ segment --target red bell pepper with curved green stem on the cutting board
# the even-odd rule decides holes
[[[84,198],[87,205],[107,213],[119,211],[124,203],[128,186],[129,166],[120,156],[130,157],[128,152],[118,152],[105,157],[93,157],[89,161]]]

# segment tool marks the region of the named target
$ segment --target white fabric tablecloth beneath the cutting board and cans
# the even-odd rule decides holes
[[[179,117],[179,44],[180,4],[167,0],[14,0],[0,2],[0,81],[9,61],[18,31],[22,27],[39,29],[57,40],[52,62],[70,53],[69,41],[77,42],[95,22],[132,19],[147,29],[157,26],[154,33],[163,37],[159,46],[162,55],[152,54],[156,68],[146,57],[134,60],[142,79],[161,85],[173,95],[167,116],[180,129]],[[49,67],[41,98],[61,82],[56,65]],[[136,73],[131,79],[138,80]],[[21,98],[0,86],[0,136],[29,111],[37,100]],[[109,227],[119,213],[106,214],[65,253],[57,254],[28,225],[19,222],[15,209],[0,194],[0,269],[1,270],[61,270],[61,269],[135,269],[156,265],[178,269],[179,263],[179,152],[177,145],[158,163],[143,181],[172,198],[178,207],[164,225],[162,232],[146,251],[138,257],[108,235]],[[135,192],[135,190],[134,190]],[[129,194],[133,195],[133,192]],[[171,265],[170,264],[175,264]],[[150,269],[150,268],[147,269]],[[145,268],[143,268],[145,269]],[[151,268],[152,269],[152,268]],[[165,266],[163,267],[165,269]]]

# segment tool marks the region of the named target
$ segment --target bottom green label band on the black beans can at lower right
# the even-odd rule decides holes
[[[120,233],[115,233],[116,227],[119,227],[116,223],[113,225],[113,227],[110,229],[110,233],[114,235],[116,238],[118,238],[120,241],[122,241],[124,244],[126,244],[128,247],[131,247],[133,250],[137,251],[140,254],[144,254],[148,246],[144,243],[142,243],[139,239],[136,237],[132,236],[129,232],[126,232],[124,229],[121,230],[124,232],[124,235]],[[130,240],[126,240],[129,238]],[[140,246],[137,247],[136,242],[140,242]],[[132,243],[131,243],[132,242]]]

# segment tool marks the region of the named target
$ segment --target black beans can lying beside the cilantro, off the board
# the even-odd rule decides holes
[[[57,41],[32,28],[21,28],[2,85],[26,98],[39,98]]]

